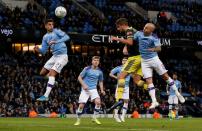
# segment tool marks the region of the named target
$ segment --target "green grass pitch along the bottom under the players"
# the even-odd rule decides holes
[[[116,123],[112,118],[100,118],[96,125],[83,118],[74,126],[73,118],[0,118],[0,131],[202,131],[202,118],[126,119]]]

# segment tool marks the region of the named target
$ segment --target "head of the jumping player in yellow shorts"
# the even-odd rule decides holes
[[[116,20],[116,29],[120,32],[127,30],[128,20],[126,18],[119,18]]]

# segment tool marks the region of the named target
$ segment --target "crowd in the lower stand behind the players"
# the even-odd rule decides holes
[[[49,55],[39,57],[33,53],[4,54],[0,57],[0,115],[7,117],[28,116],[29,111],[35,110],[39,114],[74,114],[78,106],[80,84],[77,77],[80,71],[91,63],[91,56],[72,55],[69,63],[57,77],[50,99],[47,102],[37,102],[36,98],[41,96],[46,89],[47,79],[39,76],[39,71]],[[113,61],[111,61],[113,59]],[[102,113],[114,102],[116,80],[108,76],[110,70],[121,63],[121,56],[117,54],[104,55],[101,59],[100,68],[104,72],[104,87],[106,95],[101,96]],[[182,82],[182,91],[188,94],[186,104],[180,106],[182,115],[201,115],[202,111],[202,88],[201,88],[201,62],[197,60],[179,60],[170,58],[163,59],[170,72],[178,72],[179,80]],[[157,98],[161,106],[159,112],[167,115],[167,96],[161,95],[165,92],[166,83],[155,75],[155,85],[158,88]],[[130,84],[130,104],[128,113],[137,110],[140,114],[149,113],[148,107],[151,103],[148,91],[137,88]],[[192,98],[192,99],[191,99]],[[194,99],[194,100],[193,100]],[[190,102],[191,101],[191,102]],[[194,102],[193,102],[194,101]],[[92,113],[94,105],[87,103],[84,112]],[[197,116],[196,115],[196,116]]]

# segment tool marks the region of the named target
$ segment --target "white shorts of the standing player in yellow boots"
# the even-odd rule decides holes
[[[79,96],[79,103],[86,103],[89,97],[91,98],[91,101],[93,101],[95,98],[100,98],[97,89],[92,89],[88,91],[82,90]]]

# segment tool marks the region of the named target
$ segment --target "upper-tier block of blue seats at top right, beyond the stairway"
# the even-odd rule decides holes
[[[176,19],[170,18],[163,22],[158,21],[159,34],[165,32],[166,36],[172,38],[202,39],[202,3],[200,0],[138,0],[137,2],[146,10],[167,11],[176,17]]]

